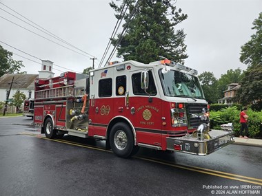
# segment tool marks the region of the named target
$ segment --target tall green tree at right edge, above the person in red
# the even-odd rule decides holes
[[[253,22],[250,41],[241,46],[240,61],[248,65],[241,80],[241,89],[237,93],[237,98],[243,104],[250,104],[253,100],[258,100],[257,105],[262,105],[262,12],[259,18]],[[262,108],[256,108],[261,110]]]

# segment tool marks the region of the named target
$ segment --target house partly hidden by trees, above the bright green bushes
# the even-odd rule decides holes
[[[236,91],[240,88],[239,83],[231,83],[228,85],[228,89],[223,91],[224,97],[218,100],[219,104],[232,105],[233,98],[236,96]]]

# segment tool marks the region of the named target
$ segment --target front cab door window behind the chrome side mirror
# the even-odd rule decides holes
[[[157,94],[157,88],[156,85],[154,85],[154,78],[152,72],[149,71],[148,74],[149,74],[149,85],[146,91],[150,95],[155,96]],[[148,96],[145,90],[141,89],[141,72],[132,74],[132,88],[133,88],[133,93],[135,95]]]

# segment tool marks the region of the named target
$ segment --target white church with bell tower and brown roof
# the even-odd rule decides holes
[[[52,78],[52,61],[42,61],[41,71],[39,74],[4,74],[0,77],[0,101],[6,102],[17,92],[23,92],[27,99],[34,99],[34,80],[36,78]],[[10,90],[12,83],[12,88]],[[9,98],[8,98],[8,93]]]

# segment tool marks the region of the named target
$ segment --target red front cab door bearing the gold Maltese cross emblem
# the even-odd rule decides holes
[[[162,146],[161,99],[153,73],[149,71],[149,87],[141,89],[141,71],[130,75],[130,119],[137,132],[137,143]]]

